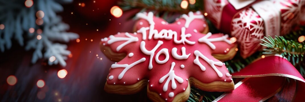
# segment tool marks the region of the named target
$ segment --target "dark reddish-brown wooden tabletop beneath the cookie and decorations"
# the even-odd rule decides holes
[[[71,15],[71,12],[74,14]],[[25,51],[15,42],[12,49],[0,53],[1,101],[149,101],[146,90],[133,95],[108,94],[103,90],[109,67],[114,62],[102,54],[99,41],[117,32],[132,32],[134,21],[127,19],[136,12],[138,10],[124,12],[120,18],[113,18],[109,13],[105,13],[105,16],[101,17],[102,20],[92,22],[78,15],[75,6],[65,5],[65,11],[61,13],[63,21],[70,24],[70,32],[80,35],[80,42],[67,43],[68,50],[73,55],[66,60],[67,66],[48,66],[44,60],[31,64],[33,51]],[[63,79],[57,76],[57,71],[61,69],[68,71]],[[9,75],[17,77],[18,81],[14,86],[9,86],[6,82]],[[38,88],[36,85],[39,79],[45,81],[43,88]],[[285,90],[268,101],[291,101],[289,98],[294,94],[295,85],[287,83],[285,87]],[[45,93],[45,98],[42,100],[38,99],[39,92]]]

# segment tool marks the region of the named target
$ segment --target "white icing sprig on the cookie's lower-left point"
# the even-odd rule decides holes
[[[131,63],[131,64],[112,64],[111,65],[111,68],[120,68],[120,67],[123,67],[123,68],[125,68],[121,73],[120,73],[120,75],[119,75],[119,79],[122,79],[123,78],[123,76],[124,76],[124,74],[127,72],[127,70],[129,70],[131,67],[133,67],[133,66],[135,66],[135,65],[137,65],[137,64],[139,64],[139,63],[141,63],[141,62],[144,62],[146,59],[145,58],[142,58],[142,59],[140,59],[140,60],[138,60],[138,61],[135,61],[134,63]]]

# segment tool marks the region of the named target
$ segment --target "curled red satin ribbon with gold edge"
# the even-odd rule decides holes
[[[304,101],[305,80],[298,70],[282,57],[268,56],[257,60],[240,72],[233,73],[232,77],[245,79],[235,85],[235,90],[224,93],[214,101],[257,102],[267,100],[281,90],[285,77],[298,80],[292,101]]]

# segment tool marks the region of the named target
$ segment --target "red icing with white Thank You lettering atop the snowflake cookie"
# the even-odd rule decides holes
[[[202,83],[231,82],[225,65],[212,54],[226,54],[226,49],[235,44],[231,44],[227,35],[201,34],[206,22],[200,12],[182,15],[171,24],[152,12],[138,13],[137,17],[138,33],[120,32],[102,39],[102,44],[115,53],[127,53],[123,60],[111,66],[107,84],[132,85],[147,79],[150,91],[172,101],[187,89],[189,77]],[[146,37],[141,31],[146,32]],[[150,37],[150,32],[161,33]]]

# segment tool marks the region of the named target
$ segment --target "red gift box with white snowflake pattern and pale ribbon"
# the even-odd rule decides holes
[[[302,9],[304,9],[304,0],[256,0],[254,5],[259,3],[265,4],[262,2],[266,1],[271,2],[273,7],[264,8],[259,5],[260,9],[263,9],[262,11],[265,10],[265,13],[258,13],[258,9],[252,6],[252,4],[242,9],[236,10],[233,8],[234,10],[232,10],[234,5],[230,4],[230,0],[205,0],[205,9],[208,13],[208,18],[220,31],[230,32],[231,36],[237,38],[241,55],[246,58],[261,49],[260,43],[262,41],[260,39],[263,39],[264,36],[285,35],[291,31],[294,25],[298,25],[302,18],[301,13]],[[274,10],[272,8],[275,8],[275,13],[279,12],[278,18],[280,22],[274,21],[277,16],[269,16],[270,11]],[[226,12],[225,14],[230,14],[232,18],[228,17],[228,19],[223,16],[224,12]],[[263,17],[266,15],[268,15],[267,18]],[[269,23],[271,21],[275,22],[276,25]],[[231,23],[224,24],[224,22]],[[278,33],[268,33],[272,32],[267,31],[271,28],[271,25],[273,25],[272,27],[279,27]],[[230,28],[227,31],[227,29],[223,29],[221,26]]]

